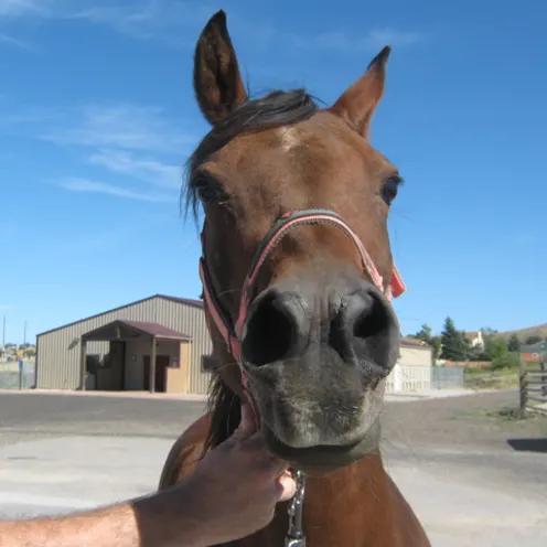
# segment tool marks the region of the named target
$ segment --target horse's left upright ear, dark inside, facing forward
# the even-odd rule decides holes
[[[223,10],[208,20],[197,41],[194,92],[203,116],[212,125],[223,121],[247,99]]]

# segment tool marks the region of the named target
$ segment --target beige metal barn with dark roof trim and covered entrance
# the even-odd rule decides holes
[[[36,388],[206,394],[203,302],[155,294],[36,336]]]

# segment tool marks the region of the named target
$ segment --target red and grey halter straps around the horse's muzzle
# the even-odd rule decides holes
[[[205,317],[207,318],[207,312],[213,319],[218,332],[222,334],[225,340],[229,353],[239,363],[240,361],[240,335],[242,329],[245,323],[245,319],[247,317],[247,310],[250,304],[249,301],[249,292],[255,282],[255,279],[260,271],[260,267],[265,262],[268,255],[272,251],[276,245],[286,236],[291,229],[301,225],[310,225],[310,224],[325,224],[335,226],[341,229],[357,247],[361,261],[363,264],[363,269],[371,277],[373,283],[384,292],[384,282],[382,276],[378,270],[374,266],[374,262],[371,258],[371,255],[366,251],[363,243],[355,232],[350,227],[350,225],[333,211],[329,210],[301,210],[293,211],[283,214],[269,229],[269,232],[264,237],[260,246],[255,253],[253,261],[250,264],[249,272],[245,279],[242,298],[239,301],[239,313],[237,317],[237,321],[234,324],[228,315],[223,311],[218,299],[214,297],[211,291],[211,276],[208,274],[205,259],[202,256],[200,259],[200,277],[203,283],[203,301],[205,304]],[[390,291],[388,290],[387,297],[394,298],[399,297],[403,292],[406,291],[406,286],[400,277],[397,268],[394,265],[392,281],[390,281]],[[390,292],[390,294],[389,294]],[[210,321],[210,318],[207,318]],[[211,331],[211,328],[210,328]]]

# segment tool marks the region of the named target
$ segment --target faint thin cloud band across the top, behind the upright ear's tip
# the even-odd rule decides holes
[[[77,6],[75,6],[77,4]],[[2,12],[3,6],[3,12]],[[154,40],[175,46],[193,47],[197,33],[207,19],[217,10],[216,6],[197,1],[182,0],[0,0],[0,18],[42,17],[87,21],[90,24],[109,26],[114,31],[135,39]],[[423,35],[396,29],[376,29],[363,33],[328,31],[317,35],[293,33],[264,21],[253,21],[247,14],[228,10],[229,25],[234,35],[251,40],[259,46],[272,43],[286,49],[319,49],[351,54],[382,47],[386,44],[408,46],[420,41]],[[189,32],[191,31],[191,35]]]

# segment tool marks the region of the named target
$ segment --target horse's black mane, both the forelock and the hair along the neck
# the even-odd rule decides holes
[[[189,158],[185,193],[181,196],[185,197],[186,214],[192,211],[194,219],[197,219],[202,200],[222,196],[222,189],[217,187],[215,181],[203,175],[194,176],[197,168],[213,153],[239,135],[298,124],[313,116],[317,110],[315,100],[303,88],[288,92],[277,89],[264,97],[245,100],[210,130]],[[212,420],[204,453],[225,441],[238,427],[242,416],[239,397],[224,383],[218,373],[213,373],[211,379],[207,410]]]

